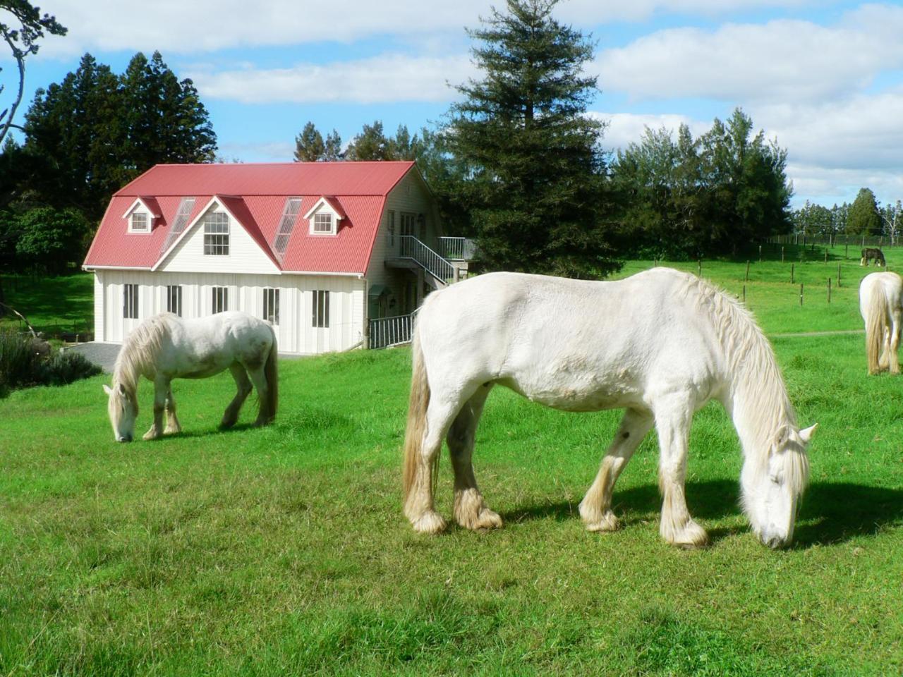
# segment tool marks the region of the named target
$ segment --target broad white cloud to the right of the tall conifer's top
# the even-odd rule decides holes
[[[849,18],[843,27],[780,20],[654,32],[602,51],[600,84],[633,100],[706,97],[748,105],[844,96],[881,70],[903,66],[903,9],[868,5]]]

